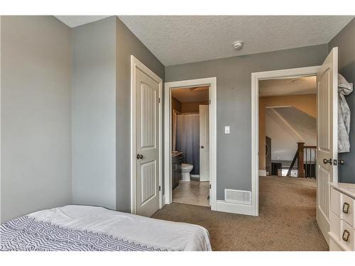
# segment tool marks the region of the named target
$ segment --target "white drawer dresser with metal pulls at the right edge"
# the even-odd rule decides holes
[[[355,184],[330,183],[330,240],[331,251],[355,250]]]

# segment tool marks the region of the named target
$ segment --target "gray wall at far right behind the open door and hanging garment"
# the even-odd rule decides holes
[[[338,47],[339,73],[348,82],[355,83],[355,19],[353,19],[340,33],[329,43],[329,50]],[[345,161],[339,165],[339,182],[355,183],[355,92],[346,96],[346,101],[351,109],[350,125],[350,153],[340,153],[339,158]]]

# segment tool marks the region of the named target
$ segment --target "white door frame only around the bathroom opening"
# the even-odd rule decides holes
[[[172,202],[171,193],[171,89],[209,86],[209,184],[211,184],[211,209],[217,205],[217,78],[190,79],[166,82],[164,90],[164,190],[165,204]]]

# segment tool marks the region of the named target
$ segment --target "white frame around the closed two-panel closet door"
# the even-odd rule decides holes
[[[136,214],[136,69],[141,70],[159,84],[159,209],[163,206],[162,189],[162,92],[163,79],[151,71],[146,65],[131,55],[131,213]]]

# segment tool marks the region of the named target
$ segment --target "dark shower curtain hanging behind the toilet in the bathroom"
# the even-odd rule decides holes
[[[200,174],[200,116],[180,114],[176,123],[176,149],[182,161],[194,166],[191,174]]]

